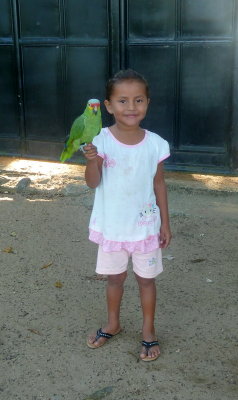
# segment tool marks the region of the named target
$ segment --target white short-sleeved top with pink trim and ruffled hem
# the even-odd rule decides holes
[[[161,221],[153,182],[158,163],[170,155],[168,142],[145,131],[140,143],[126,145],[103,128],[93,144],[104,162],[89,239],[104,251],[147,253],[158,248]]]

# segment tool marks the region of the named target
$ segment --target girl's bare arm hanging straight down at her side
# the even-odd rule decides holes
[[[169,225],[168,199],[167,189],[164,181],[163,163],[159,163],[157,172],[154,177],[154,191],[156,196],[156,204],[160,209],[161,228],[160,228],[160,245],[168,247],[172,234]]]

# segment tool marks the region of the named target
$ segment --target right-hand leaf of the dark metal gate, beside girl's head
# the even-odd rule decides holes
[[[126,2],[124,66],[148,78],[145,126],[180,169],[230,168],[236,15],[236,0]]]

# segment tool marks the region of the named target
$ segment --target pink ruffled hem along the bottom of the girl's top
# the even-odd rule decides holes
[[[105,252],[127,250],[129,253],[135,251],[149,253],[160,247],[159,234],[149,236],[144,240],[138,240],[136,242],[116,242],[105,239],[101,232],[89,229],[89,240],[100,244]]]

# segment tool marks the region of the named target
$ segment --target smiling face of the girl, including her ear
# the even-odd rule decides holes
[[[110,100],[105,100],[104,104],[116,123],[133,128],[145,118],[149,99],[142,82],[125,80],[114,85]]]

